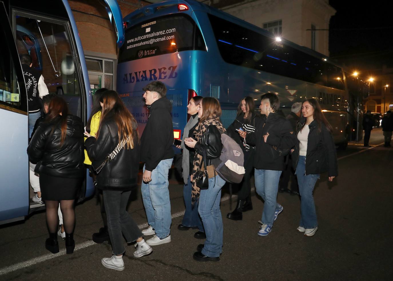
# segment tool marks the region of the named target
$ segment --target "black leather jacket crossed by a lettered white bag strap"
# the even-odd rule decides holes
[[[102,121],[98,139],[88,137],[85,141],[87,154],[92,160],[92,166],[98,168],[119,144],[118,126],[110,117]],[[108,161],[97,175],[97,187],[102,190],[131,190],[137,184],[140,144],[137,134],[137,124],[133,123],[134,149],[127,145]]]

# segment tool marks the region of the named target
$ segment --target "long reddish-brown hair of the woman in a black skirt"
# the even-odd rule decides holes
[[[55,118],[60,117],[59,120],[61,126],[60,147],[63,145],[64,140],[66,139],[67,115],[68,115],[68,106],[66,101],[61,97],[54,97],[48,104],[48,114],[46,114],[45,121],[51,122]],[[55,130],[55,127],[53,127],[52,132],[53,130]]]

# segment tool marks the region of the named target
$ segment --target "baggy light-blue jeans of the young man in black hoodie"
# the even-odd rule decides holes
[[[141,192],[145,206],[147,223],[154,228],[158,238],[165,238],[171,233],[171,202],[169,201],[168,172],[173,158],[161,160],[151,171],[151,182],[142,181]],[[145,172],[143,166],[143,172]]]

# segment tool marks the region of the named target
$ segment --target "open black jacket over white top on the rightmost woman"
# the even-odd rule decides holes
[[[301,117],[297,124],[296,136],[306,119]],[[307,125],[305,125],[307,126]],[[312,121],[309,125],[310,133],[307,139],[306,170],[305,174],[320,174],[327,172],[328,177],[338,175],[337,153],[332,133],[321,124],[321,131],[318,130],[318,122]],[[299,160],[299,140],[296,138],[295,150],[292,152],[292,164],[296,170]]]

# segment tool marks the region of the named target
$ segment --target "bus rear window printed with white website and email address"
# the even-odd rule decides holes
[[[193,49],[206,51],[195,22],[186,15],[168,15],[127,29],[119,63]]]

